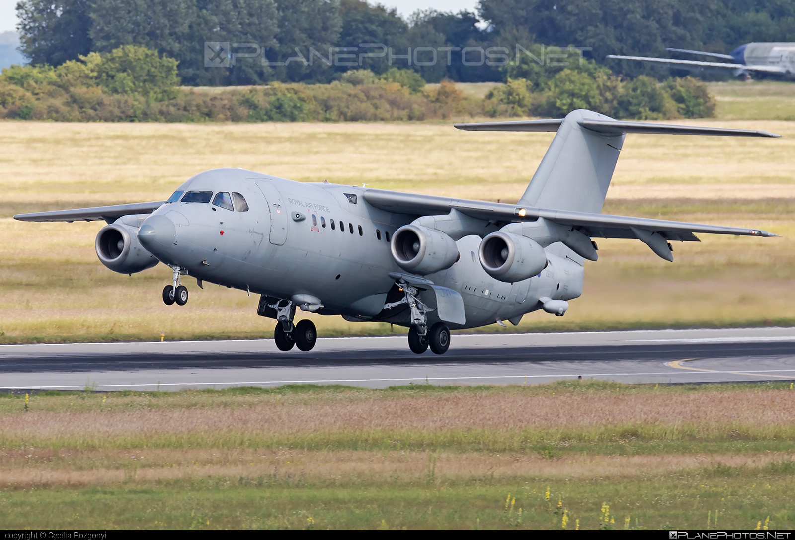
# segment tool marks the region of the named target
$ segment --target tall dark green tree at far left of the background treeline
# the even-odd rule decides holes
[[[91,52],[89,0],[21,0],[17,29],[31,64],[63,64]]]

